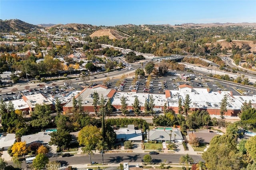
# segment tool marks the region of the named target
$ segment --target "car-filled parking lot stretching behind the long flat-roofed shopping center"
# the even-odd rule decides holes
[[[164,94],[165,90],[178,90],[179,85],[182,84],[188,84],[191,85],[193,88],[209,88],[212,89],[212,91],[232,91],[233,95],[241,95],[238,91],[242,91],[242,95],[254,95],[254,91],[250,89],[245,89],[240,87],[239,85],[227,85],[226,83],[222,81],[215,81],[212,79],[204,79],[203,77],[197,77],[196,80],[191,80],[191,81],[185,81],[179,79],[180,75],[174,74],[174,73],[169,73],[169,75],[166,75],[164,77],[158,77],[158,79],[152,78],[150,81],[150,85],[148,88],[145,87],[147,79],[138,79],[136,84],[134,86],[132,85],[133,79],[131,78],[126,78],[124,82],[122,82],[122,87],[116,87],[116,82],[118,80],[111,80],[110,83],[108,83],[108,88],[114,89],[116,87],[117,91],[122,91],[122,92],[129,92],[132,89],[136,89],[137,93],[154,93],[154,94]],[[102,84],[102,81],[92,81],[88,84]],[[8,100],[14,100],[14,99],[20,99],[22,96],[26,95],[32,95],[32,94],[38,94],[42,93],[46,97],[50,97],[50,95],[62,95],[62,94],[67,94],[68,91],[70,90],[82,90],[83,87],[85,87],[84,83],[74,83],[72,84],[69,89],[66,88],[65,86],[54,86],[50,85],[47,86],[48,84],[42,86],[42,87],[37,87],[34,89],[26,89],[23,91],[15,91],[11,93],[5,93],[0,95],[0,99],[4,101]],[[88,87],[88,86],[87,86]],[[68,90],[68,91],[67,91]]]

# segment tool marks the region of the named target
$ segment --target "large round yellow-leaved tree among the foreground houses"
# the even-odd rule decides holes
[[[102,133],[96,126],[88,125],[80,130],[78,133],[78,142],[80,145],[96,145],[102,138]]]

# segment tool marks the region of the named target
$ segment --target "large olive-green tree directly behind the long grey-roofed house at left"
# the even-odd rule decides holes
[[[45,128],[47,127],[52,118],[51,118],[51,106],[50,105],[39,105],[36,104],[34,107],[34,111],[31,113],[32,115],[32,121],[31,125],[32,127],[36,128]]]

